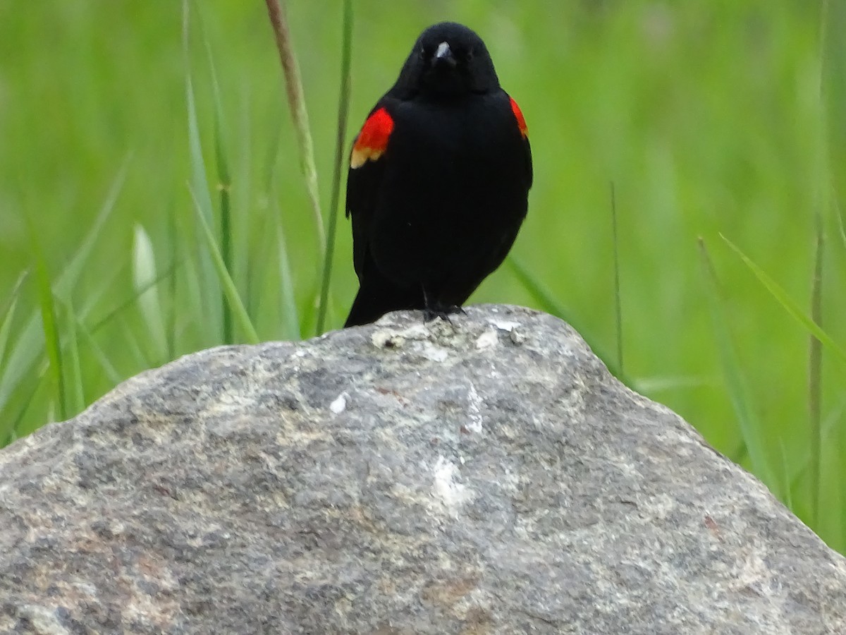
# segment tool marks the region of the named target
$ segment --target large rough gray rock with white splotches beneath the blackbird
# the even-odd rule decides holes
[[[3,450],[0,631],[843,633],[846,563],[482,306],[202,351]]]

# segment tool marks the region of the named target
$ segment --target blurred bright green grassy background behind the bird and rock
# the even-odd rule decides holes
[[[846,32],[841,4],[355,0],[347,144],[420,30],[442,19],[477,30],[525,113],[535,159],[515,261],[619,368],[613,183],[627,383],[755,469],[843,550],[843,363],[824,349],[824,429],[815,433],[809,334],[720,237],[808,312],[819,215],[823,326],[846,340],[837,213],[846,55],[842,36],[822,37]],[[231,273],[250,318],[264,340],[296,336],[298,326],[304,337],[314,333],[319,246],[265,3],[198,6],[186,51],[176,0],[0,3],[0,443],[73,415],[121,378],[222,342],[219,316],[197,301],[204,247],[189,187],[189,75],[216,213],[218,141],[231,173]],[[327,217],[342,3],[292,0],[287,10]],[[149,237],[159,280],[146,294],[133,262],[146,262],[148,273],[152,264],[136,227]],[[299,307],[293,324],[281,245]],[[39,246],[56,301],[64,398],[41,328]],[[341,326],[357,288],[344,218],[335,263],[329,328]],[[549,308],[509,264],[472,301]],[[728,337],[715,329],[715,306]],[[750,460],[752,444],[772,476]]]

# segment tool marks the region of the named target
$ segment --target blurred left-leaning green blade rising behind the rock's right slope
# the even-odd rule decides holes
[[[720,290],[717,272],[714,270],[711,257],[705,246],[705,240],[699,239],[700,258],[702,272],[706,282],[706,299],[711,309],[711,321],[714,325],[715,339],[719,352],[722,373],[725,376],[726,389],[731,399],[734,414],[738,417],[740,433],[743,436],[747,450],[749,450],[752,468],[758,478],[766,483],[773,494],[781,498],[779,481],[775,477],[770,462],[766,456],[766,448],[763,444],[763,428],[761,422],[755,416],[752,408],[749,389],[743,373],[740,371],[740,361],[735,351],[731,332],[728,329],[726,317],[723,314],[722,292]]]

